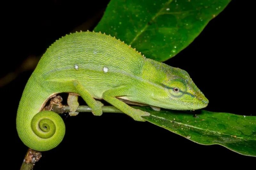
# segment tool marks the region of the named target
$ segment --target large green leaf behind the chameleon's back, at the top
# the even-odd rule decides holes
[[[165,61],[186,48],[230,0],[111,0],[94,31],[147,58]]]

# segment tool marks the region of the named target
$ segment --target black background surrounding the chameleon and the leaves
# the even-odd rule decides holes
[[[10,169],[18,169],[27,147],[17,135],[15,117],[22,91],[33,71],[22,63],[29,56],[28,61],[36,61],[34,56],[40,57],[49,45],[67,33],[80,29],[92,31],[108,2],[12,3],[9,4],[12,8],[2,15],[2,28],[6,29],[2,37],[7,39],[2,38],[5,44],[2,51],[6,54],[1,58],[0,75],[16,72],[18,76],[3,85],[0,92],[4,139],[7,139],[2,147],[10,155],[6,158],[12,162]],[[188,71],[210,101],[207,110],[255,116],[255,54],[250,42],[254,36],[253,10],[248,9],[250,5],[240,3],[232,1],[188,48],[165,63]],[[103,113],[99,117],[80,113],[63,119],[67,129],[63,141],[55,149],[43,152],[36,170],[122,168],[136,164],[172,168],[224,163],[230,167],[249,165],[255,160],[219,145],[193,143],[151,123],[135,122],[127,115]]]

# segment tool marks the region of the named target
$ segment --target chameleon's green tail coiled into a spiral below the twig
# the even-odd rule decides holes
[[[22,94],[16,118],[16,128],[22,142],[36,151],[55,148],[65,135],[65,124],[60,115],[40,111],[51,96],[31,76]]]

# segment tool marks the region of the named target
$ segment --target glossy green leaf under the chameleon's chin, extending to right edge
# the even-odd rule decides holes
[[[256,157],[256,116],[205,110],[188,113],[174,110],[153,111],[149,107],[138,108],[151,114],[143,116],[148,122],[198,144],[219,144],[242,155]]]

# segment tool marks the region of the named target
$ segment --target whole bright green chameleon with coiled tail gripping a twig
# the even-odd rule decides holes
[[[61,92],[81,96],[93,115],[102,115],[103,99],[136,121],[150,114],[129,102],[174,110],[200,109],[209,102],[185,70],[146,58],[105,33],[70,33],[46,50],[20,99],[16,129],[29,148],[47,151],[62,141],[62,118],[42,110]]]

